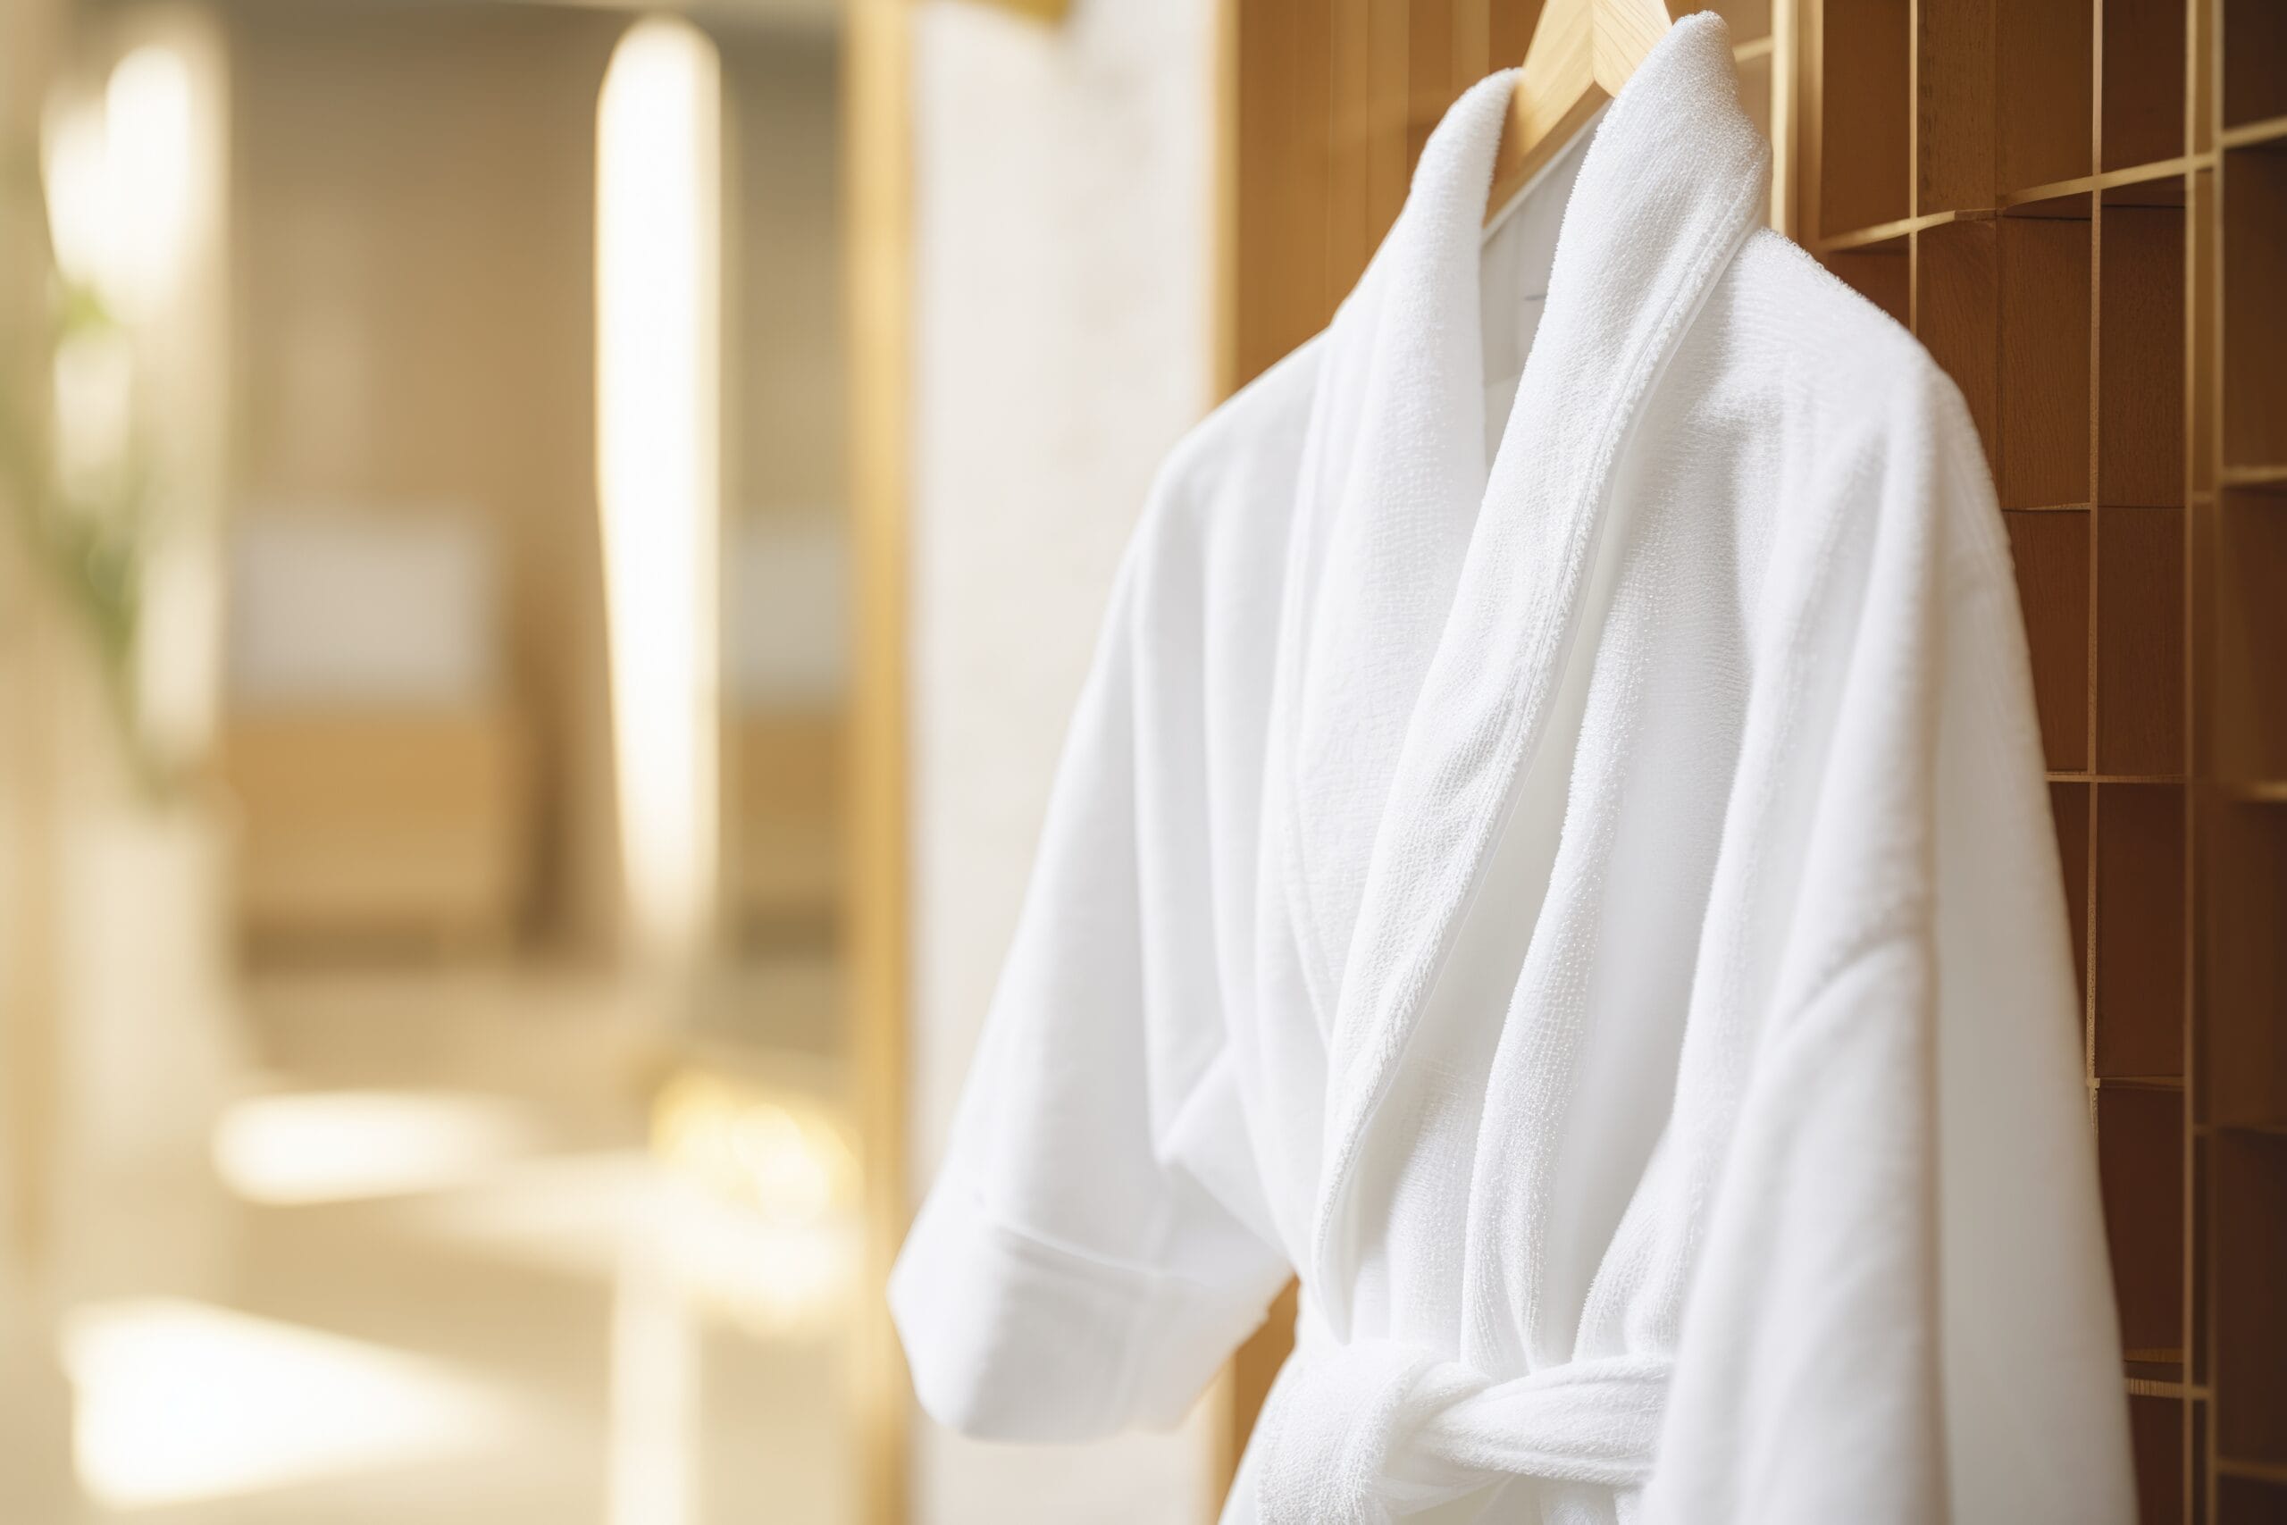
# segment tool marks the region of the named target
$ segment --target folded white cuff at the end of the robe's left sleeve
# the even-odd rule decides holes
[[[1265,1315],[1260,1299],[1050,1244],[940,1180],[890,1274],[913,1390],[981,1440],[1173,1429]]]

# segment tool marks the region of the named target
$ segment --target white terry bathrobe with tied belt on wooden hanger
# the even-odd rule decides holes
[[[892,1280],[922,1404],[1171,1422],[1299,1274],[1226,1520],[2129,1520],[1960,396],[1759,226],[1720,21],[1487,240],[1512,82],[1137,530]]]

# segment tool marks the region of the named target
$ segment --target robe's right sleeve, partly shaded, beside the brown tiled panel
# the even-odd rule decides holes
[[[1647,1518],[2125,1525],[2081,1001],[1953,386],[1891,398],[1818,489],[1846,533],[1804,647],[1793,917]]]

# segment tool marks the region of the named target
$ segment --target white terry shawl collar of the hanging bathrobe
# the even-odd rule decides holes
[[[1358,1161],[1539,743],[1628,430],[1770,176],[1724,23],[1676,23],[1580,165],[1487,464],[1480,251],[1514,82],[1475,85],[1425,144],[1326,332],[1304,446],[1267,805],[1283,931],[1326,1031],[1304,1271],[1336,1333]]]

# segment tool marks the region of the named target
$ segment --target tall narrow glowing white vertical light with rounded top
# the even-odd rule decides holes
[[[716,899],[720,64],[636,23],[597,107],[597,487],[629,931],[688,965]]]

